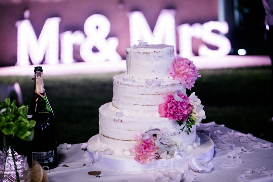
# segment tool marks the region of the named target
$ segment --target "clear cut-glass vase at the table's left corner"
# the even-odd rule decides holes
[[[26,157],[14,149],[12,135],[3,134],[4,147],[0,154],[0,181],[30,182],[30,168]]]

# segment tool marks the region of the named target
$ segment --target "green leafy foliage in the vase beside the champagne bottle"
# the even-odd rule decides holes
[[[5,135],[18,136],[22,140],[31,141],[34,137],[34,120],[28,120],[28,106],[15,106],[15,100],[0,102],[0,130]]]

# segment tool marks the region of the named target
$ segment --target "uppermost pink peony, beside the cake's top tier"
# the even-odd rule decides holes
[[[180,81],[187,89],[191,89],[197,77],[201,77],[201,75],[198,75],[198,69],[194,63],[180,56],[175,56],[174,62],[171,64],[169,70],[170,76]]]

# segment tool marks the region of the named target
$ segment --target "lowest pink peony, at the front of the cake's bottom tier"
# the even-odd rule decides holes
[[[157,151],[159,148],[154,141],[156,136],[151,136],[149,139],[143,140],[142,137],[135,136],[136,143],[129,150],[135,155],[134,159],[137,162],[146,164],[149,161],[153,161],[158,157]]]

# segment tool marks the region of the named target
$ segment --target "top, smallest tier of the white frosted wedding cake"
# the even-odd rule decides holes
[[[165,44],[126,47],[127,75],[134,79],[164,79],[174,61],[174,46]]]

